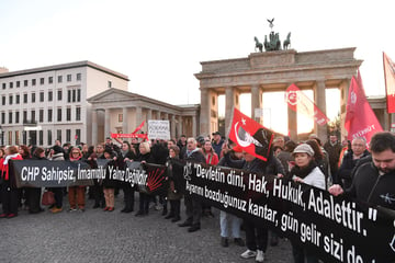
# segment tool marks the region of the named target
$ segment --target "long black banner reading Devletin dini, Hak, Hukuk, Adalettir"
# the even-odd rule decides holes
[[[181,162],[179,162],[181,163]],[[395,262],[395,213],[273,175],[184,162],[185,192],[325,262]]]

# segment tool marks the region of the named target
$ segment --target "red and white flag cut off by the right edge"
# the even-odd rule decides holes
[[[395,65],[385,53],[383,53],[383,62],[387,112],[395,113]]]

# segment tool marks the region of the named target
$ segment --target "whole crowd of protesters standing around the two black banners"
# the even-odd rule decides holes
[[[129,161],[156,163],[167,165],[170,179],[165,195],[151,196],[144,191],[124,183],[111,180],[94,181],[91,186],[49,187],[46,192],[54,194],[55,202],[48,207],[53,214],[66,208],[72,211],[84,211],[87,198],[94,201],[92,209],[115,210],[114,198],[123,191],[124,207],[121,213],[135,211],[135,216],[145,217],[150,206],[161,209],[165,219],[179,222],[179,227],[187,227],[189,232],[201,229],[201,218],[214,218],[212,207],[190,193],[184,193],[180,178],[183,170],[172,165],[172,159],[184,159],[203,162],[212,165],[244,169],[264,175],[275,175],[304,183],[321,190],[328,190],[334,195],[348,195],[374,205],[395,209],[395,202],[388,202],[383,195],[395,196],[395,137],[391,133],[377,133],[373,136],[368,150],[363,137],[352,141],[339,142],[335,134],[329,136],[326,144],[312,134],[307,140],[293,141],[286,136],[276,136],[272,141],[271,153],[267,161],[262,161],[226,140],[216,132],[212,136],[139,141],[137,138],[128,140],[112,140],[95,146],[80,144],[71,146],[59,140],[49,149],[42,147],[8,146],[0,148],[1,195],[2,213],[0,218],[14,218],[20,209],[27,209],[31,214],[43,211],[41,198],[42,188],[18,188],[12,180],[10,160],[52,160],[52,161],[83,161],[91,168],[98,167],[98,159],[108,159],[109,164],[125,168]],[[109,173],[108,173],[109,174]],[[135,194],[138,192],[138,206],[135,207]],[[88,197],[87,197],[88,195]],[[65,205],[64,198],[68,199]],[[185,218],[181,215],[181,201],[184,201]],[[160,208],[159,208],[160,207]],[[221,245],[224,248],[233,241],[236,245],[247,247],[240,255],[244,259],[255,258],[263,262],[268,244],[276,245],[279,236],[275,231],[248,218],[239,218],[229,213],[219,211]],[[245,231],[245,239],[241,237]],[[318,262],[318,258],[305,250],[300,243],[292,242],[294,262]]]

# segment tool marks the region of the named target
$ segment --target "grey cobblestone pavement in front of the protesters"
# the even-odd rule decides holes
[[[53,215],[46,209],[31,215],[21,210],[15,218],[0,219],[0,262],[255,262],[239,256],[246,248],[232,242],[221,247],[219,210],[215,208],[214,218],[203,218],[202,229],[189,233],[163,219],[159,210],[150,209],[146,217],[120,213],[122,192],[112,213],[92,206],[89,199],[84,213]],[[280,239],[279,245],[269,245],[266,262],[292,262],[290,242]]]

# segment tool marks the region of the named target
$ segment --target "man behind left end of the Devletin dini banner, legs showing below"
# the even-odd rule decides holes
[[[200,148],[198,148],[198,141],[194,138],[187,140],[187,152],[183,157],[187,161],[205,162],[205,158]],[[187,220],[180,224],[180,227],[189,227],[189,232],[194,232],[201,228],[201,216],[202,216],[202,202],[195,197],[192,197],[191,193],[185,193],[184,205]]]

